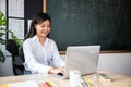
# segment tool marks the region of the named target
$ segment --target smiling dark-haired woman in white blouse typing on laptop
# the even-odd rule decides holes
[[[47,13],[37,13],[25,37],[23,44],[24,66],[33,74],[63,72],[64,61],[60,58],[56,42],[47,37],[50,26],[50,16]]]

